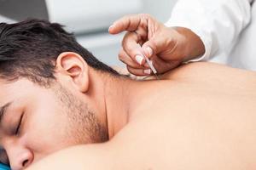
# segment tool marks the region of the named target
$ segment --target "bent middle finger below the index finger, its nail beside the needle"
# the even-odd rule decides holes
[[[137,62],[139,65],[145,64],[145,59],[143,57],[143,49],[139,44],[140,38],[135,32],[126,32],[125,37],[122,41],[122,46],[125,50],[125,53],[130,56],[130,58]]]

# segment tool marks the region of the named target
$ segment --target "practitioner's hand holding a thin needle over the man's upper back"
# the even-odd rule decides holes
[[[164,73],[205,52],[194,32],[183,27],[166,27],[149,14],[127,15],[109,27],[111,34],[121,31],[127,32],[119,59],[137,76],[151,74],[143,54],[153,62],[158,73]]]

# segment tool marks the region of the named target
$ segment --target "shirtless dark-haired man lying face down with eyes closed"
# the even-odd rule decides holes
[[[14,170],[45,156],[32,169],[253,169],[255,85],[252,71],[207,63],[138,82],[58,24],[2,23],[0,161]]]

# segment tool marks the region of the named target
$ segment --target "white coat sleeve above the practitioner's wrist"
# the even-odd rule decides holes
[[[218,50],[232,48],[251,20],[254,0],[179,0],[166,26],[182,26],[201,37],[206,53],[196,60],[208,60]]]

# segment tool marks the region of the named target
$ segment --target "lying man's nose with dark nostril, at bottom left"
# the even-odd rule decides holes
[[[12,148],[7,150],[9,163],[12,170],[21,170],[32,164],[34,156],[31,150],[26,148]]]

